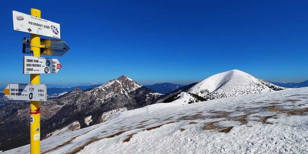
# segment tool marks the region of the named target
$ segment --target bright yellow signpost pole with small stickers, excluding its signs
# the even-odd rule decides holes
[[[30,9],[32,16],[41,18],[41,10]],[[41,56],[40,35],[30,34],[30,51],[33,56]],[[30,84],[40,84],[40,74],[30,74]],[[40,153],[40,101],[30,101],[30,154]]]

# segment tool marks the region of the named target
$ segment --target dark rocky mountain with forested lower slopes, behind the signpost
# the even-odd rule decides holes
[[[99,124],[120,111],[144,107],[160,95],[162,94],[141,86],[125,75],[89,91],[76,88],[60,97],[41,102],[41,139]],[[1,130],[12,132],[12,136],[10,134],[2,138],[0,136],[0,148],[9,149],[9,147],[18,147],[22,143],[23,145],[27,143],[28,138],[24,137],[28,136],[29,133],[27,108],[24,106],[16,107],[12,104],[3,107],[0,111],[1,121],[3,122],[0,124]],[[24,114],[17,114],[16,112]],[[23,121],[20,122],[20,120]],[[19,123],[23,126],[20,126]],[[8,127],[12,124],[15,124],[15,130]],[[26,129],[24,129],[25,127]],[[19,139],[22,137],[27,138],[27,140],[20,143]],[[7,144],[15,142],[19,143]]]

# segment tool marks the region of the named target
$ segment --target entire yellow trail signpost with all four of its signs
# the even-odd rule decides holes
[[[42,58],[42,55],[62,56],[70,48],[63,40],[41,39],[48,36],[60,39],[60,24],[41,18],[41,10],[31,9],[31,15],[13,11],[13,28],[30,33],[24,38],[23,73],[30,74],[30,84],[9,84],[3,93],[10,100],[30,101],[30,153],[40,153],[40,101],[46,101],[46,85],[40,84],[40,74],[57,73],[62,65],[58,59]],[[30,51],[30,52],[29,52]]]

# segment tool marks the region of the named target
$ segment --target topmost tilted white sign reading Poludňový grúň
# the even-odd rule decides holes
[[[13,29],[60,39],[60,24],[13,11]]]

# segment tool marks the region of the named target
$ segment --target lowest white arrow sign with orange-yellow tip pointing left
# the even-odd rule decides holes
[[[45,101],[47,99],[46,84],[10,83],[3,93],[10,100]]]

